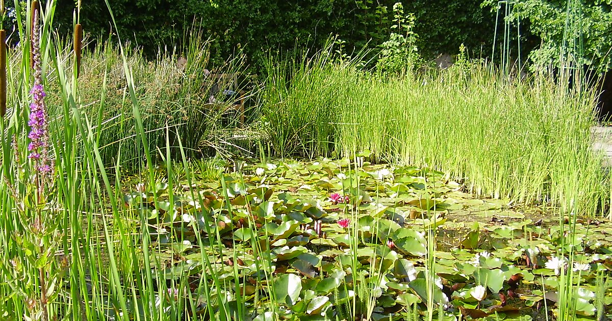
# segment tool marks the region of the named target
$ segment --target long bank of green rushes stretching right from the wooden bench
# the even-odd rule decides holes
[[[282,66],[270,72],[263,113],[282,155],[370,150],[376,161],[441,169],[482,196],[577,202],[581,213],[606,202],[589,90],[542,75],[508,81],[486,64],[398,79],[312,61],[284,70],[289,77]]]

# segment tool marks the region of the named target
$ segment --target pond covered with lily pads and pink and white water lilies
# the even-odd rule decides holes
[[[198,177],[198,174],[195,174]],[[612,224],[348,159],[139,185],[160,309],[239,320],[610,317]]]

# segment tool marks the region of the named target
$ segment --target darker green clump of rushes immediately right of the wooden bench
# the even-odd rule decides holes
[[[334,64],[332,46],[302,57],[269,57],[261,114],[271,144],[282,156],[313,158],[334,150],[339,106],[355,88],[350,66]]]

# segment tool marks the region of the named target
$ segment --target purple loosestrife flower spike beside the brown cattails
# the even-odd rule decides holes
[[[28,125],[30,133],[28,138],[30,144],[28,151],[29,158],[35,161],[35,170],[37,175],[45,178],[49,177],[51,171],[51,161],[49,159],[49,131],[47,122],[47,108],[45,106],[45,89],[42,86],[42,66],[40,64],[40,28],[38,19],[38,10],[34,13],[34,28],[32,34],[32,53],[34,55],[34,86],[30,94],[32,94],[32,103],[30,105],[30,116]]]

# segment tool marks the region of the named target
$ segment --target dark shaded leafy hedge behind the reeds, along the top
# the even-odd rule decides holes
[[[310,46],[321,48],[337,35],[346,50],[376,48],[389,40],[395,0],[112,0],[118,30],[111,28],[104,0],[83,1],[81,24],[86,32],[106,37],[110,32],[155,53],[160,45],[181,48],[192,26],[201,26],[213,40],[212,60],[241,51],[252,65],[267,50],[281,52]],[[417,46],[427,56],[456,53],[460,44],[480,51],[490,47],[494,17],[480,0],[402,1],[415,17]],[[57,2],[61,31],[72,28],[74,3]]]

